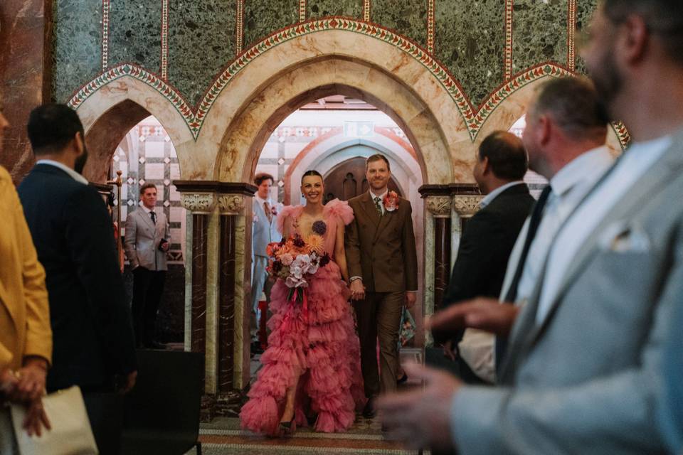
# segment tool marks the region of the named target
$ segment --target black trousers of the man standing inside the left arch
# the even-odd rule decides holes
[[[157,326],[157,311],[162,300],[166,272],[142,266],[133,269],[133,328],[138,347],[152,347]]]

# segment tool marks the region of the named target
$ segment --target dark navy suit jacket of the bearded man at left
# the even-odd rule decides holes
[[[60,168],[33,167],[18,188],[46,271],[53,328],[48,390],[112,387],[137,368],[112,220],[95,188]]]

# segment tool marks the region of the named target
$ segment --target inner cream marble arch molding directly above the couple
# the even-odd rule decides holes
[[[328,95],[346,95],[378,107],[406,133],[418,156],[425,181],[450,182],[453,169],[448,139],[433,110],[411,87],[368,62],[327,56],[276,73],[263,90],[254,91],[228,125],[221,140],[213,178],[247,180],[253,175],[265,141],[292,111]],[[455,171],[455,172],[454,172]]]

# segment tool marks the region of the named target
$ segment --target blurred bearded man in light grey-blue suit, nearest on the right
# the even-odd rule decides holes
[[[678,2],[600,4],[583,58],[633,143],[558,231],[514,321],[503,386],[413,370],[425,391],[383,403],[403,437],[461,454],[665,452],[662,346],[680,336],[669,321],[683,301],[682,31]]]

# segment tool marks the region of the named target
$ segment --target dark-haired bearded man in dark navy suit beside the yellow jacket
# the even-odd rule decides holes
[[[80,175],[88,157],[83,137],[73,109],[33,109],[28,139],[38,162],[18,193],[46,272],[53,329],[47,389],[80,386],[98,440],[95,394],[130,390],[137,363],[112,220],[97,190]],[[101,454],[111,450],[100,446]]]

